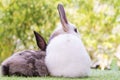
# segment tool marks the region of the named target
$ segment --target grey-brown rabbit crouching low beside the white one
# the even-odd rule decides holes
[[[41,35],[34,31],[37,45],[41,50],[25,50],[14,53],[2,62],[3,76],[47,76],[48,70],[44,59],[46,56],[46,42]]]

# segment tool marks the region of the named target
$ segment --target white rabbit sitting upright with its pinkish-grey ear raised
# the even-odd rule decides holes
[[[55,77],[90,76],[91,59],[77,28],[68,22],[64,7],[58,4],[61,25],[52,33],[46,48],[45,64]]]

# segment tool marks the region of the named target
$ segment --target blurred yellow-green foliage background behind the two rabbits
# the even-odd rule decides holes
[[[59,22],[58,3],[77,26],[93,64],[111,64],[120,51],[120,0],[0,0],[0,63],[14,52],[37,50],[34,30],[48,41]]]

